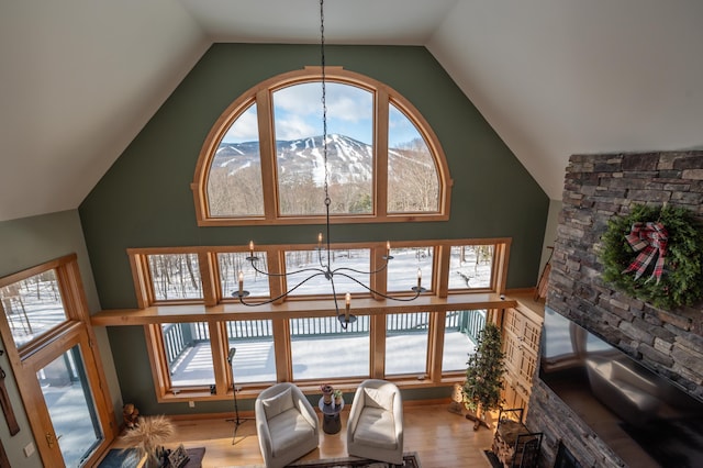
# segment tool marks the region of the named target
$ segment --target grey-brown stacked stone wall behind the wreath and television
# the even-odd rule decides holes
[[[655,309],[601,280],[599,239],[632,204],[685,207],[703,219],[703,152],[574,155],[569,160],[547,307],[703,397],[700,307]],[[560,439],[584,467],[623,463],[542,380],[535,378],[526,421],[543,431],[543,466]]]

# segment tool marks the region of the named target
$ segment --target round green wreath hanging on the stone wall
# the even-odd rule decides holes
[[[663,272],[659,281],[652,278],[651,261],[639,278],[625,272],[637,253],[625,238],[636,222],[663,224],[668,233]],[[601,261],[605,267],[603,279],[628,296],[671,310],[693,305],[702,296],[703,234],[691,212],[684,208],[635,205],[628,216],[614,216],[601,238]]]

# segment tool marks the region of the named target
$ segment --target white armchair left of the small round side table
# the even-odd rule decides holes
[[[317,415],[292,383],[277,383],[256,399],[256,432],[267,468],[280,468],[317,448]]]

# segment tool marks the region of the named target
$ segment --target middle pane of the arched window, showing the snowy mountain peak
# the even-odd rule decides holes
[[[373,180],[373,94],[325,85],[332,214],[370,214]],[[322,86],[302,82],[272,92],[278,204],[281,216],[325,213]]]

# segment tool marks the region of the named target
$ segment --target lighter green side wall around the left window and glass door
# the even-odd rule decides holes
[[[0,248],[0,277],[76,253],[89,310],[91,313],[100,310],[77,210],[0,222],[0,246],[2,246]],[[120,414],[122,400],[120,399],[120,389],[116,383],[116,375],[112,365],[105,330],[96,330],[96,335],[105,368],[110,394],[113,399],[113,406],[118,411],[116,414]],[[2,349],[4,348],[3,343]],[[20,424],[20,432],[14,436],[10,436],[4,414],[0,412],[0,420],[2,420],[0,422],[0,438],[2,439],[2,445],[8,453],[11,466],[41,467],[42,463],[36,452],[29,458],[22,452],[24,446],[33,442],[33,437],[20,397],[21,390],[16,387],[7,354],[0,356],[0,367],[7,374],[4,379],[5,387]]]

